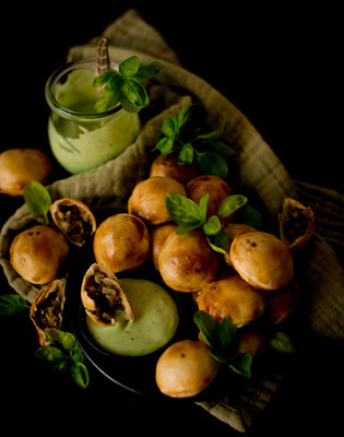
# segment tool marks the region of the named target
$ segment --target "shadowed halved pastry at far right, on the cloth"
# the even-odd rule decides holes
[[[286,198],[278,214],[280,236],[292,250],[305,247],[315,233],[315,214],[309,206]]]

